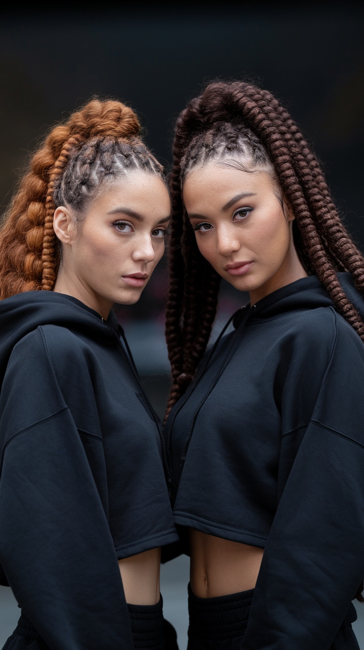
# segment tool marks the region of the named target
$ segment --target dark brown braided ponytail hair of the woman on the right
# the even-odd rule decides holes
[[[364,323],[343,291],[347,270],[364,294],[364,259],[335,209],[317,158],[291,116],[267,90],[241,81],[210,83],[176,120],[165,335],[172,387],[166,417],[193,378],[212,330],[219,281],[206,269],[182,202],[182,184],[197,165],[217,159],[247,172],[269,171],[295,214],[295,245],[337,309],[364,341]],[[179,242],[179,243],[178,243]],[[203,305],[203,306],[202,306]]]

